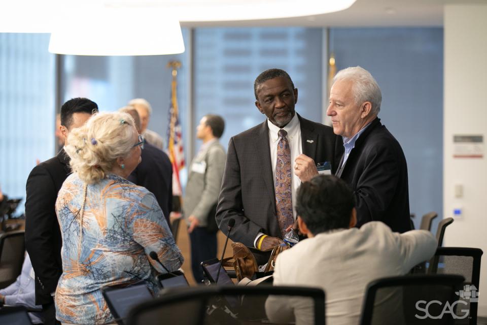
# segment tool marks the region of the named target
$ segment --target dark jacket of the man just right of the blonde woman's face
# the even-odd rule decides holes
[[[130,174],[128,180],[144,186],[156,197],[162,213],[169,222],[169,213],[172,211],[172,165],[171,160],[164,151],[149,143],[144,144],[142,161]]]

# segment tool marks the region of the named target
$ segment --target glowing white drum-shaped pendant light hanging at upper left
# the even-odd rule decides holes
[[[184,52],[179,21],[164,8],[84,7],[54,27],[49,52],[72,55],[161,55]]]

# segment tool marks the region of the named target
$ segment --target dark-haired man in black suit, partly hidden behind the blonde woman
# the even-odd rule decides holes
[[[59,127],[64,140],[72,129],[82,126],[97,110],[96,103],[86,98],[64,103]],[[36,274],[36,304],[42,305],[46,324],[59,323],[51,296],[62,273],[61,232],[54,206],[57,192],[69,173],[69,157],[62,149],[55,157],[34,167],[27,178],[25,247]]]

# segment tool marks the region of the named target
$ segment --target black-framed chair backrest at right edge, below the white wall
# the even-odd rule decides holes
[[[462,301],[470,310],[469,316],[458,323],[477,324],[482,250],[467,247],[439,247],[430,261],[428,274],[458,274],[465,278]]]

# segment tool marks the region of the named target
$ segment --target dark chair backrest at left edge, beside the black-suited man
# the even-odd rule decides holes
[[[25,232],[23,230],[0,235],[0,287],[15,281],[22,271],[25,257]]]

